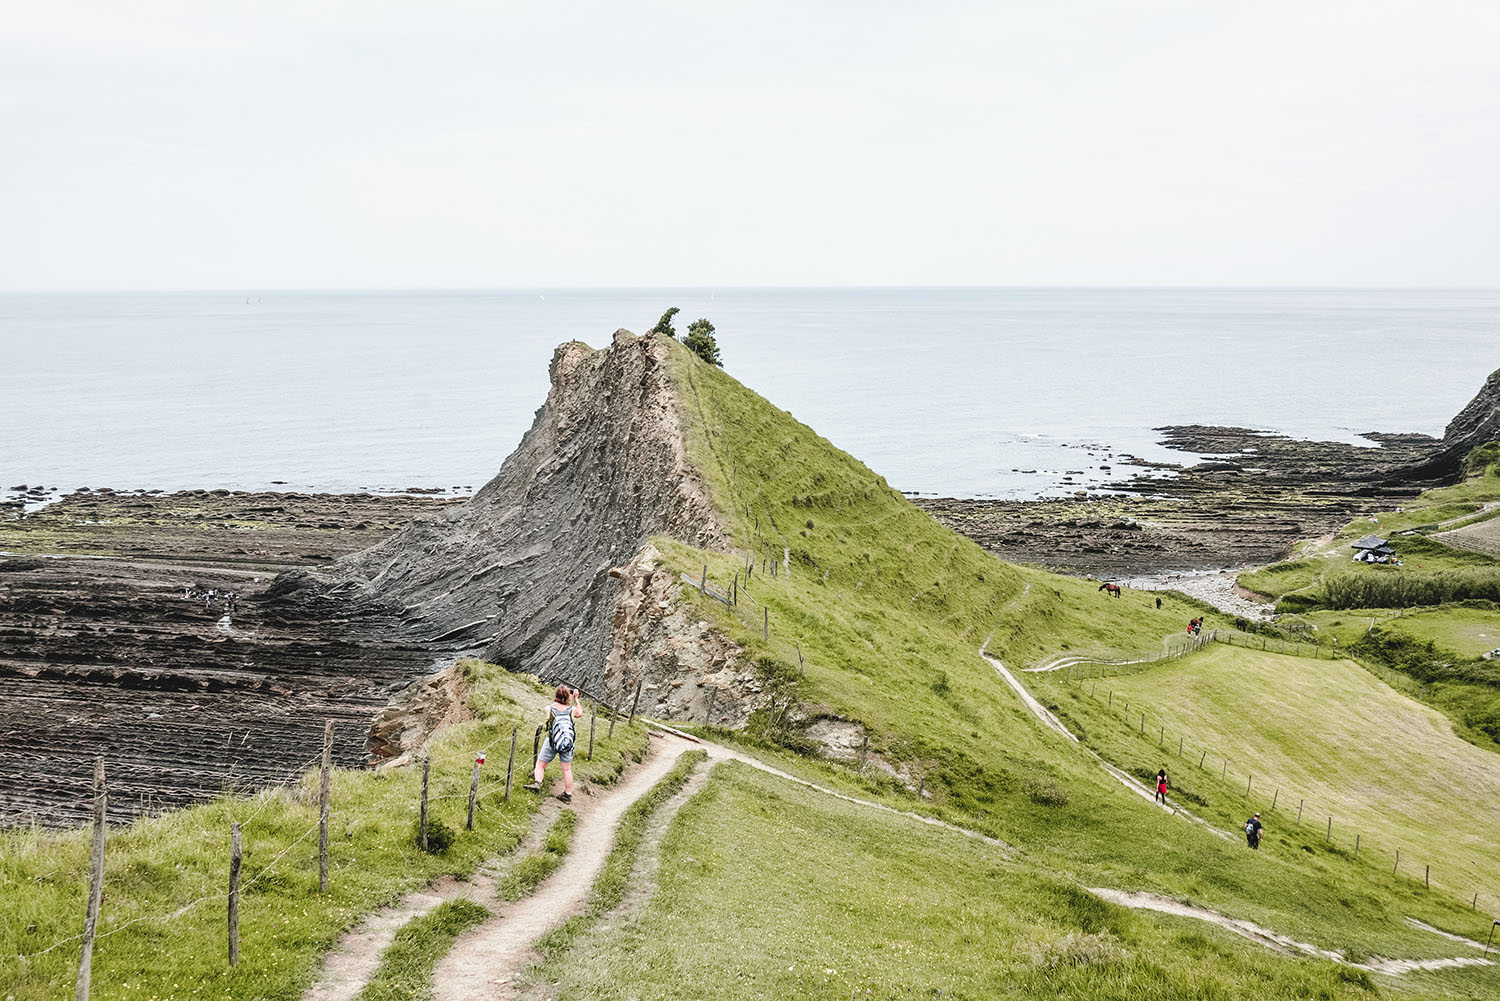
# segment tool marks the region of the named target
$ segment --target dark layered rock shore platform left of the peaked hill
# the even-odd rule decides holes
[[[0,824],[86,819],[94,755],[111,821],[286,780],[327,719],[336,759],[366,761],[370,720],[430,651],[266,588],[450,503],[88,489],[0,512]]]

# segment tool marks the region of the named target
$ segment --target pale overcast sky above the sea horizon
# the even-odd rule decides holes
[[[1500,5],[32,3],[0,288],[1500,285]]]

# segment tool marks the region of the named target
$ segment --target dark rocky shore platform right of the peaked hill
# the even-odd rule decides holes
[[[1408,470],[1438,440],[1368,434],[1368,446],[1302,441],[1248,428],[1158,428],[1202,461],[1146,464],[1066,500],[914,498],[933,518],[1014,563],[1138,578],[1284,560],[1302,539],[1432,486]]]

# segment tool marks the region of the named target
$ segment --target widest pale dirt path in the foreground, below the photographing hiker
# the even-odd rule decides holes
[[[537,959],[537,939],[584,911],[626,810],[693,746],[676,734],[657,734],[645,761],[626,771],[616,785],[592,795],[574,795],[578,825],[562,866],[524,900],[489,902],[492,917],[462,935],[438,962],[432,977],[434,1001],[492,1001],[513,995],[516,975]]]

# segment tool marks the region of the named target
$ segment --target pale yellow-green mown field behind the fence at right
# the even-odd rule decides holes
[[[1466,743],[1443,714],[1348,660],[1212,647],[1142,674],[1101,678],[1096,689],[1048,687],[1112,759],[1148,774],[1166,764],[1174,786],[1208,800],[1192,806],[1198,813],[1238,824],[1254,809],[1269,810],[1280,788],[1280,809],[1266,816],[1275,839],[1322,848],[1334,816],[1335,843],[1352,851],[1358,831],[1371,866],[1389,872],[1400,848],[1408,873],[1420,876],[1432,864],[1434,882],[1464,897],[1482,890],[1491,905],[1500,903],[1492,897],[1500,885],[1500,755]],[[1106,690],[1114,693],[1113,710]],[[1158,747],[1161,726],[1166,750]],[[1184,758],[1176,755],[1179,737]],[[1306,801],[1300,830],[1299,800]]]

